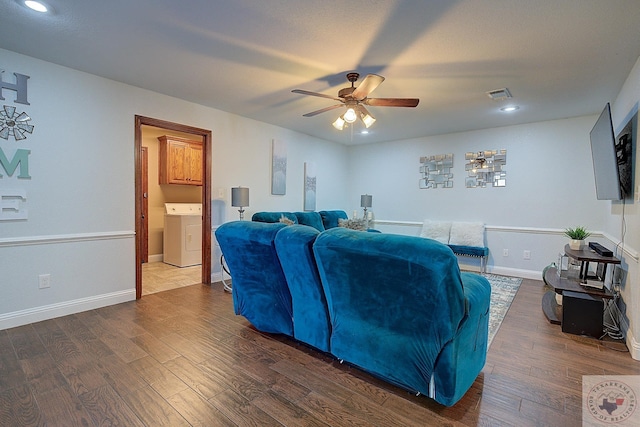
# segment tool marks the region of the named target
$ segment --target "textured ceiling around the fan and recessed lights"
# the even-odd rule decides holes
[[[640,56],[638,0],[46,3],[0,0],[0,47],[344,144],[596,114]],[[349,71],[420,104],[369,107],[369,135],[302,117],[335,102],[292,89],[336,96]],[[517,112],[485,94],[502,87]]]

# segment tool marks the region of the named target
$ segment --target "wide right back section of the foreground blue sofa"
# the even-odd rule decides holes
[[[466,314],[458,262],[430,239],[335,228],[314,244],[331,353],[388,381],[428,390]]]

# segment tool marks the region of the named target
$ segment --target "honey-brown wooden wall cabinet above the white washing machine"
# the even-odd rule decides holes
[[[160,184],[202,185],[202,143],[160,136]]]

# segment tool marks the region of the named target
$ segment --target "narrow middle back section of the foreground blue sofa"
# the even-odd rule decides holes
[[[291,292],[293,336],[319,350],[329,351],[329,312],[313,255],[320,232],[291,225],[278,232],[276,251]]]

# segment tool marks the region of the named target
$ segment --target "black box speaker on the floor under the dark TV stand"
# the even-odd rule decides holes
[[[562,293],[562,332],[600,338],[603,313],[601,297],[571,291]]]

